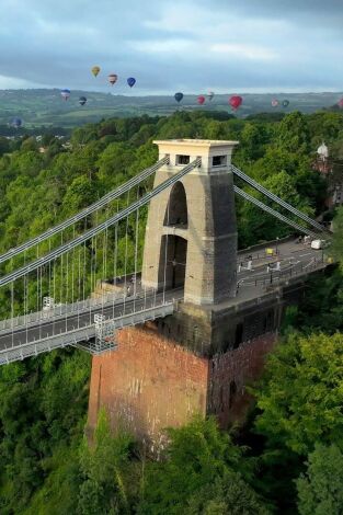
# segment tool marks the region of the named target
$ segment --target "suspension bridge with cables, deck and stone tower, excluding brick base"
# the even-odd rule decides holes
[[[156,164],[0,255],[0,364],[68,345],[102,354],[116,347],[117,330],[168,317],[180,302],[256,299],[325,266],[322,252],[291,242],[272,260],[263,250],[237,253],[235,194],[296,233],[330,233],[231,164],[236,142],[157,144]]]

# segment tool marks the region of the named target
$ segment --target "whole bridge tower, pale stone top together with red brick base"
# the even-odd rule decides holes
[[[89,403],[90,431],[104,407],[114,428],[152,442],[195,413],[215,414],[222,427],[241,420],[250,402],[245,385],[274,345],[288,295],[254,287],[236,295],[230,163],[237,142],[156,144],[160,158],[170,158],[156,186],[202,158],[199,168],[151,201],[146,229],[144,285],[183,287],[184,300],[171,316],[118,331],[118,348],[93,357]]]

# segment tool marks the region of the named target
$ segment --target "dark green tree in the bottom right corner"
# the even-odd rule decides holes
[[[297,480],[300,515],[343,514],[343,454],[332,444],[316,444],[307,471]]]

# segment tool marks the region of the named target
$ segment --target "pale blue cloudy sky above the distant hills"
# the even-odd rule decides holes
[[[0,89],[342,91],[342,0],[1,0]],[[99,65],[101,73],[90,72]],[[111,89],[107,75],[118,75]],[[135,77],[133,90],[126,78]]]

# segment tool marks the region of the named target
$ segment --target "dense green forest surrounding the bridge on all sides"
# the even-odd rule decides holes
[[[155,138],[176,137],[239,140],[233,162],[315,217],[325,211],[328,188],[312,169],[316,149],[324,140],[342,160],[343,114],[238,119],[180,111],[84,125],[70,145],[53,134],[39,142],[32,135],[0,137],[0,252],[152,164]],[[241,248],[289,234],[256,209],[237,199]],[[324,216],[334,217],[330,252],[343,262],[343,209]],[[302,304],[288,309],[279,345],[261,381],[250,386],[255,404],[247,424],[224,433],[215,420],[194,417],[167,428],[169,444],[158,461],[132,435],[112,434],[105,412],[89,445],[88,354],[66,350],[1,367],[0,513],[343,513],[342,274],[336,266],[310,281]],[[1,293],[2,317],[5,306]]]

